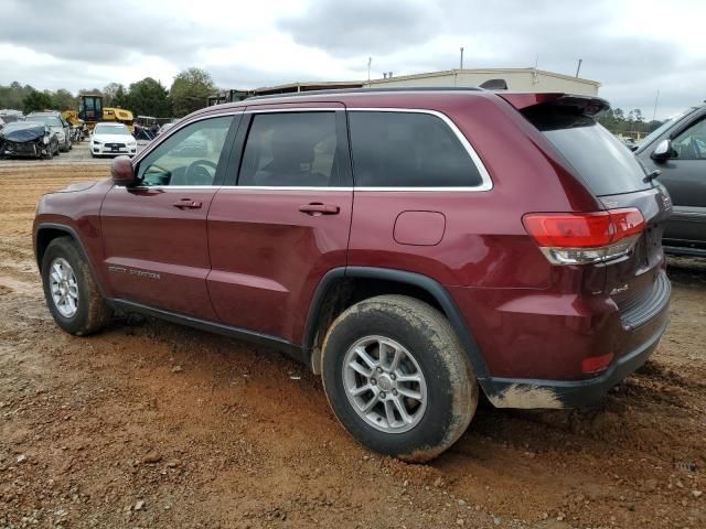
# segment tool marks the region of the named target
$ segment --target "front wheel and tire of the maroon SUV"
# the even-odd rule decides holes
[[[53,276],[52,272],[63,273]],[[56,292],[60,302],[55,301],[52,291],[56,285],[56,278],[66,280],[64,292],[69,292],[74,299],[75,311],[71,313],[71,303],[61,303],[61,292]],[[71,237],[58,237],[52,240],[42,258],[42,284],[44,299],[56,324],[65,332],[76,336],[84,336],[103,328],[113,316],[90,272],[81,248]],[[64,299],[68,296],[64,295]]]

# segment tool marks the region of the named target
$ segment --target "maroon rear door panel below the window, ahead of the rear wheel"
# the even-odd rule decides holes
[[[310,215],[302,205],[339,207]],[[321,277],[345,266],[351,191],[224,187],[208,215],[208,292],[221,320],[299,343]]]

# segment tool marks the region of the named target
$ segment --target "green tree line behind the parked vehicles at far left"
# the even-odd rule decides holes
[[[38,90],[15,80],[8,86],[0,85],[0,108],[23,110],[24,114],[44,109],[77,110],[79,96],[92,94],[103,96],[104,107],[125,108],[135,116],[181,118],[205,107],[207,97],[215,91],[211,75],[200,68],[180,72],[169,89],[152,77],[145,77],[127,87],[110,83],[103,89],[82,88],[76,95],[64,88]]]

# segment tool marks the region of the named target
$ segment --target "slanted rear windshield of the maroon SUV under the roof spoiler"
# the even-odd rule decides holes
[[[571,108],[530,107],[525,117],[554,144],[597,196],[648,190],[634,154],[593,118]]]

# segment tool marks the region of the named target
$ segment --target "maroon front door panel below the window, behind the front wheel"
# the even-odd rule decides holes
[[[105,267],[118,298],[215,320],[205,279],[211,263],[206,188],[115,186],[100,212]],[[176,207],[189,199],[200,207]]]

